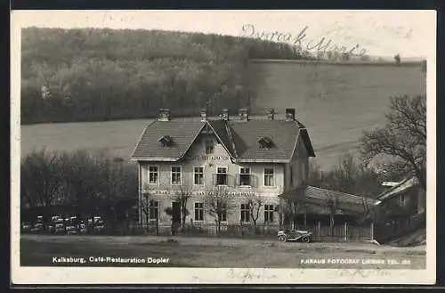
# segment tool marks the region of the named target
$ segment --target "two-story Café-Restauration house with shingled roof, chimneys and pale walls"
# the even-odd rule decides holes
[[[140,222],[180,222],[183,209],[175,195],[190,194],[187,221],[214,223],[208,198],[215,192],[231,195],[223,222],[250,222],[247,198],[263,201],[258,223],[278,222],[279,195],[307,182],[309,158],[315,157],[308,131],[295,119],[268,110],[265,118],[250,118],[246,109],[231,117],[223,110],[209,118],[172,118],[170,110],[145,128],[132,160],[138,163]],[[142,211],[142,207],[146,211]],[[167,215],[170,208],[173,216]],[[145,216],[144,216],[145,214]]]

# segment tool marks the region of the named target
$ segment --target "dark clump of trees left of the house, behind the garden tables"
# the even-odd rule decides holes
[[[33,151],[21,160],[22,220],[65,213],[130,220],[123,214],[137,205],[137,186],[136,167],[106,152]]]

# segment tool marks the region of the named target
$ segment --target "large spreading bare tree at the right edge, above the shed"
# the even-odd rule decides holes
[[[384,159],[388,173],[414,175],[426,190],[426,96],[391,98],[386,125],[367,131],[360,152],[367,164]]]

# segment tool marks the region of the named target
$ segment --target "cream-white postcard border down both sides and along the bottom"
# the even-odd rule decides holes
[[[57,11],[53,11],[58,13]],[[425,12],[425,11],[423,11]],[[97,268],[20,266],[20,28],[32,11],[11,16],[11,277],[13,284],[433,284],[436,276],[436,12],[427,58],[427,217],[425,270]],[[110,13],[110,12],[109,12]],[[141,11],[138,11],[141,13]],[[77,13],[78,15],[78,13]],[[73,21],[76,21],[73,19]],[[223,25],[223,24],[222,24]]]

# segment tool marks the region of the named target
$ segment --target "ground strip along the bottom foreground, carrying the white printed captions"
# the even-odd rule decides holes
[[[84,266],[174,266],[239,268],[393,268],[425,269],[425,247],[392,248],[368,243],[281,243],[278,240],[239,240],[156,236],[49,236],[20,237],[20,265],[69,266],[53,257],[84,257]],[[93,257],[168,258],[166,264],[92,263]],[[328,264],[328,260],[355,259],[359,264]],[[325,260],[325,264],[304,261]],[[399,264],[389,264],[392,259]],[[383,260],[384,264],[370,264]],[[404,262],[404,263],[403,263]],[[79,265],[79,264],[74,264]]]

